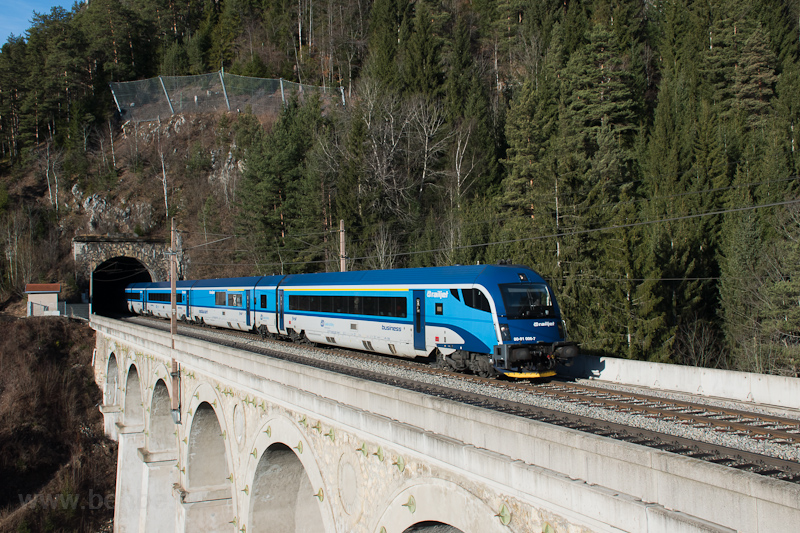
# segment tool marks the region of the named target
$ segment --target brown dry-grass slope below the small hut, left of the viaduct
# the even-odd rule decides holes
[[[98,531],[113,508],[89,498],[113,495],[117,453],[97,409],[94,332],[62,318],[0,327],[0,531]],[[77,497],[76,508],[21,505],[36,494]]]

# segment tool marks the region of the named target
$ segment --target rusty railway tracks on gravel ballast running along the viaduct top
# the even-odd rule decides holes
[[[128,320],[149,327],[169,330],[169,323],[160,319],[134,317]],[[348,374],[360,379],[402,387],[513,416],[648,446],[737,470],[800,484],[800,463],[797,461],[753,453],[705,440],[695,440],[660,431],[652,431],[628,423],[609,420],[607,419],[609,417],[601,419],[568,412],[569,410],[562,411],[542,407],[534,402],[528,403],[528,401],[521,402],[504,399],[503,393],[524,393],[532,400],[536,398],[555,399],[565,405],[589,406],[605,410],[612,415],[623,414],[626,418],[633,415],[634,418],[639,416],[657,419],[675,426],[690,426],[699,430],[711,430],[715,433],[736,435],[743,439],[753,439],[755,441],[769,441],[778,445],[797,447],[798,449],[800,449],[800,420],[714,407],[701,402],[665,399],[638,392],[609,390],[586,384],[555,381],[529,383],[481,378],[458,374],[405,359],[383,357],[338,348],[298,345],[277,340],[264,342],[258,335],[233,330],[217,330],[181,324],[179,332],[210,342],[261,353],[269,357]],[[325,357],[315,358],[289,353],[286,350],[288,347],[295,349],[292,351],[296,351],[296,348],[301,347],[304,351],[308,350],[310,353],[317,353]],[[357,365],[354,366],[346,362],[334,362],[331,360],[331,356],[334,359],[344,358],[345,361],[350,360],[351,362],[361,361],[386,365],[399,370],[400,373],[388,374],[364,370],[358,368]],[[409,376],[405,377],[402,374],[409,374]],[[422,375],[431,376],[436,380],[444,379],[449,383],[448,385],[430,383],[420,379]],[[477,393],[465,390],[459,384],[477,386],[482,392]]]

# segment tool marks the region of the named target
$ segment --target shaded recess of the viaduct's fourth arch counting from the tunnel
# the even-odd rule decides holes
[[[217,412],[208,402],[195,408],[189,430],[186,488],[219,487],[228,483],[228,450]]]

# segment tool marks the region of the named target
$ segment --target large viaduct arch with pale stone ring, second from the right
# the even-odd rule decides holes
[[[257,435],[246,474],[250,495],[243,515],[248,531],[334,531],[333,496],[317,454],[296,422],[273,417]]]

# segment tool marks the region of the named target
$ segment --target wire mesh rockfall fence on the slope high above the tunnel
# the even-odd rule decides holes
[[[317,87],[272,78],[250,78],[224,71],[196,76],[159,76],[111,83],[111,93],[123,120],[148,122],[176,113],[245,111],[277,116],[293,97],[299,101],[319,94],[323,107],[345,105],[341,87]]]

